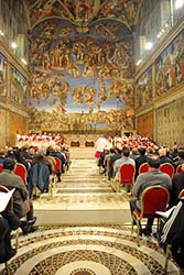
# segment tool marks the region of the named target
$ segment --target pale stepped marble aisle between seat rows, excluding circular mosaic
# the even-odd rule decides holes
[[[34,201],[37,224],[101,224],[130,222],[127,194],[112,191],[95,160],[73,160],[62,183]]]

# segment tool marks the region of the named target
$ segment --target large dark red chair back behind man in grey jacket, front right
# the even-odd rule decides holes
[[[141,217],[156,218],[155,211],[165,211],[170,200],[169,190],[161,186],[154,185],[145,188],[141,196]]]

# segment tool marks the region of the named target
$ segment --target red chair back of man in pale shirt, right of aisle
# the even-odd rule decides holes
[[[119,167],[119,184],[133,185],[136,167],[132,163],[123,163]]]

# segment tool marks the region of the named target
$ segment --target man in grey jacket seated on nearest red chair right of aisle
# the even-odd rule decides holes
[[[170,193],[172,190],[172,182],[170,176],[159,170],[160,167],[159,156],[150,155],[148,158],[148,164],[149,164],[149,172],[140,174],[137,177],[137,180],[133,185],[132,195],[134,198],[130,201],[131,213],[134,211],[134,209],[138,210],[141,209],[141,194],[147,187],[153,185],[161,185],[167,188]],[[140,224],[140,235],[141,234],[151,235],[153,220],[154,220],[153,218],[148,219],[145,229],[142,229]]]

